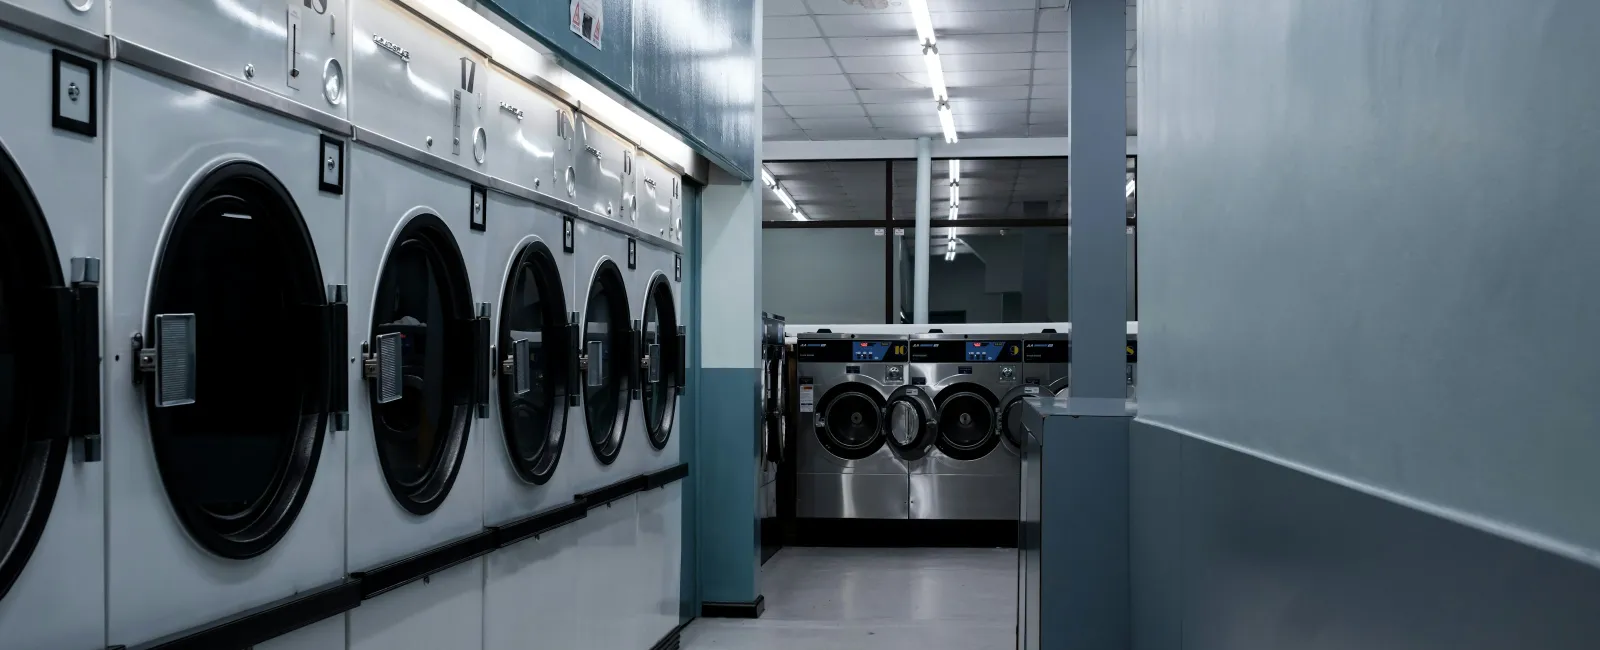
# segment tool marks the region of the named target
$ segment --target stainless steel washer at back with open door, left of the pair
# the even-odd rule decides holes
[[[910,517],[907,466],[931,451],[938,413],[906,381],[907,347],[906,336],[797,338],[797,517]]]

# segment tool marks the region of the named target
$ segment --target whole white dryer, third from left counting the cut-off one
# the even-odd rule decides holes
[[[395,567],[483,540],[483,447],[498,429],[488,296],[501,291],[485,279],[485,54],[387,0],[357,3],[349,24],[358,363],[344,535],[366,597],[349,615],[350,648],[478,647],[482,557],[429,575]]]

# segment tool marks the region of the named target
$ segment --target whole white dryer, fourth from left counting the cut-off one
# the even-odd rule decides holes
[[[581,647],[573,623],[578,581],[576,528],[544,530],[582,514],[562,464],[566,447],[587,451],[579,411],[578,314],[573,248],[560,210],[566,200],[571,112],[515,72],[490,67],[486,279],[496,379],[485,426],[485,524],[526,522],[541,535],[486,557],[483,647]],[[498,110],[494,110],[498,106]],[[555,197],[546,195],[546,192]],[[576,194],[576,186],[574,186]],[[574,442],[568,435],[578,435]],[[565,508],[563,508],[565,506]],[[550,519],[554,517],[554,519]]]

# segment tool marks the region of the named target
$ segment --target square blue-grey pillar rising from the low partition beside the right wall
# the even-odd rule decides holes
[[[1072,397],[1126,397],[1126,0],[1070,11]]]

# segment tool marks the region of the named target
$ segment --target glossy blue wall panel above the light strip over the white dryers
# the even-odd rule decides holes
[[[750,0],[603,0],[603,50],[568,27],[568,0],[482,0],[581,72],[675,126],[701,154],[754,178]]]

